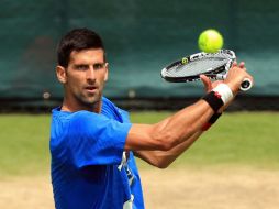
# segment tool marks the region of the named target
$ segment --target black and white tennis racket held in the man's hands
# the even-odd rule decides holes
[[[171,63],[161,69],[160,75],[170,82],[196,81],[200,79],[201,74],[213,79],[225,79],[235,59],[235,53],[230,50],[220,50],[216,53],[197,53]],[[252,86],[250,79],[245,78],[241,90],[249,90]]]

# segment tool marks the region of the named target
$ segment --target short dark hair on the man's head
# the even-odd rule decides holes
[[[100,35],[89,29],[74,29],[59,42],[57,47],[58,65],[68,67],[70,53],[89,48],[102,48],[105,59],[104,45]]]

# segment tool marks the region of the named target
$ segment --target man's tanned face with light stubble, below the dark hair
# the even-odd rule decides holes
[[[74,51],[65,69],[66,99],[77,109],[99,103],[104,81],[108,79],[108,63],[103,50]]]

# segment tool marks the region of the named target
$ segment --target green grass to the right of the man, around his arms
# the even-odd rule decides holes
[[[163,116],[163,117],[161,117]],[[160,113],[164,118],[167,113]],[[156,122],[156,116],[144,113],[133,121]],[[279,168],[279,112],[224,113],[215,125],[185,152],[172,166],[244,165]],[[141,163],[142,166],[144,166]]]

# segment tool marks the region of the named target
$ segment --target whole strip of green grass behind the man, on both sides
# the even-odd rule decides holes
[[[133,112],[137,123],[155,123],[170,112]],[[0,176],[49,170],[46,114],[0,114]],[[279,112],[224,113],[174,166],[245,165],[279,168]],[[142,165],[142,163],[141,163]]]

